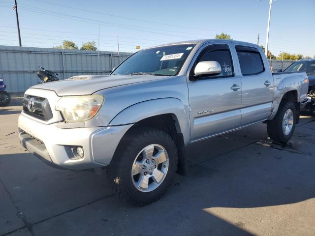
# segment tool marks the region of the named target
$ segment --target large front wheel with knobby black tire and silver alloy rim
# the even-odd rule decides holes
[[[121,199],[144,206],[166,192],[177,161],[177,148],[169,134],[142,127],[127,134],[119,145],[108,166],[107,178]]]

